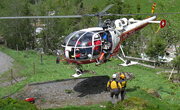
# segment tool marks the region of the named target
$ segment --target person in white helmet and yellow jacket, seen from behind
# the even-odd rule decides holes
[[[107,83],[107,89],[110,91],[110,101],[113,103],[113,96],[115,95],[115,103],[118,101],[118,96],[121,90],[121,84],[116,80],[116,74],[113,74],[113,79]]]

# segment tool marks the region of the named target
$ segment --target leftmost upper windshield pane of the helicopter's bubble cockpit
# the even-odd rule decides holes
[[[79,38],[81,37],[82,34],[84,34],[85,32],[83,31],[79,31],[76,34],[74,34],[73,37],[70,38],[69,42],[68,42],[68,46],[75,46],[76,42],[77,45],[80,45],[81,42],[79,41]]]

